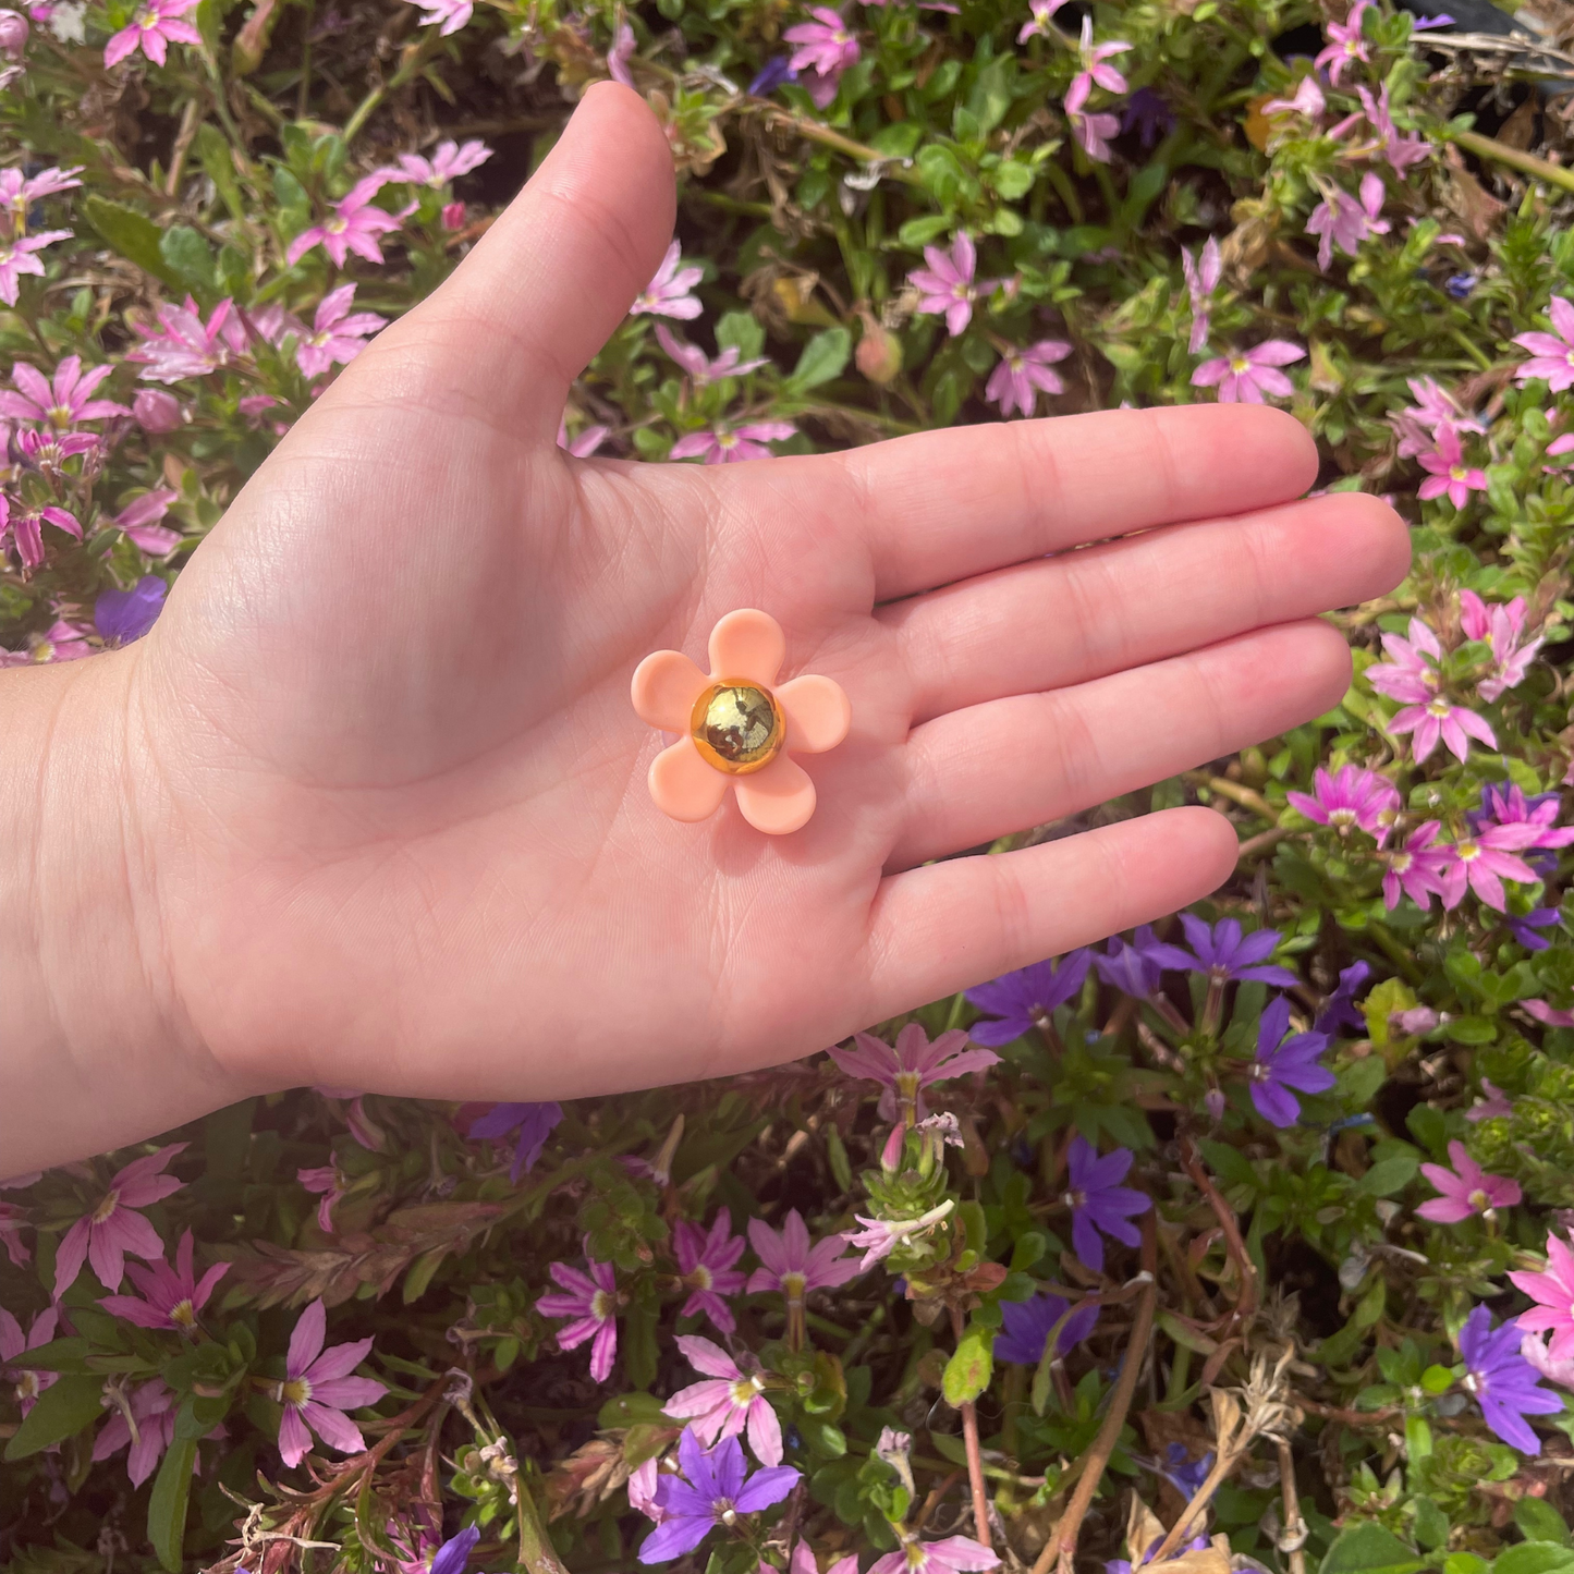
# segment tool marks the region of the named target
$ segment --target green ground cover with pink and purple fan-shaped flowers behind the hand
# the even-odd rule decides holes
[[[1476,11],[1462,20],[1476,24]],[[1360,0],[0,11],[0,663],[142,637],[590,82],[581,456],[1270,400],[1412,524],[1195,911],[776,1072],[318,1088],[0,1190],[20,1571],[1574,1568],[1574,35]]]

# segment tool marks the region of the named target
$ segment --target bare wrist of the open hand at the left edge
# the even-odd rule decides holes
[[[0,1179],[242,1097],[179,1007],[139,652],[0,674]]]

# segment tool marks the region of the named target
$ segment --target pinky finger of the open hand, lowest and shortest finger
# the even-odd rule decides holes
[[[1169,809],[1015,853],[889,875],[875,899],[870,1020],[1174,913],[1236,867],[1212,809]]]

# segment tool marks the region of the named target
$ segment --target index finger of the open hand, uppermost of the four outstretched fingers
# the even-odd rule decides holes
[[[1317,447],[1264,405],[919,433],[834,456],[881,601],[1132,530],[1299,497]]]

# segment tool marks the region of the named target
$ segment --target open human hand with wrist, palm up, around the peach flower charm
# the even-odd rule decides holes
[[[1335,704],[1349,656],[1314,614],[1402,576],[1391,510],[1294,502],[1313,442],[1250,406],[571,460],[568,387],[672,216],[656,123],[593,88],[145,641],[6,674],[36,748],[0,781],[35,839],[0,943],[0,1173],[301,1083],[551,1099],[784,1061],[1234,867],[1206,809],[927,861]],[[784,675],[852,699],[792,836],[730,796],[672,822],[645,785],[636,664],[704,666],[740,606],[784,626]]]

